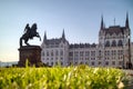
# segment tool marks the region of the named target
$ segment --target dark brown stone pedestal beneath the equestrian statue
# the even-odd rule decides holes
[[[24,67],[25,61],[30,66],[38,66],[41,62],[41,48],[40,46],[23,46],[19,49],[19,67]]]

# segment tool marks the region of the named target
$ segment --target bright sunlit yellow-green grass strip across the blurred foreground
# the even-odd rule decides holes
[[[0,89],[120,89],[124,82],[113,68],[0,68]]]

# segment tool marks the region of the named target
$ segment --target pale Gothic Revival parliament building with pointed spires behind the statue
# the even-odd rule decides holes
[[[126,67],[132,61],[133,43],[131,42],[131,29],[129,14],[125,26],[111,26],[105,28],[103,17],[99,31],[99,43],[69,43],[64,30],[59,39],[48,39],[44,32],[41,44],[41,61],[48,66],[61,65],[90,67]]]

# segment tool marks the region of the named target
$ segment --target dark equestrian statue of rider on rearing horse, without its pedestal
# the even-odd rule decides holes
[[[40,37],[39,32],[37,32],[37,29],[38,29],[37,23],[33,23],[31,28],[30,28],[29,23],[27,23],[27,26],[24,28],[24,33],[20,38],[20,47],[22,47],[22,40],[24,40],[24,43],[27,46],[30,46],[28,43],[28,40],[33,39],[33,37],[40,38],[40,41],[41,41],[41,37]]]

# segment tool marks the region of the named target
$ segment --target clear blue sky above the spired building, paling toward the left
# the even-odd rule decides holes
[[[133,0],[0,0],[0,61],[19,60],[19,39],[27,23],[37,22],[41,38],[44,31],[48,38],[60,38],[64,29],[70,43],[98,43],[101,14],[105,27],[113,26],[114,18],[123,27],[126,11],[132,31]],[[29,43],[42,41],[34,38]]]

